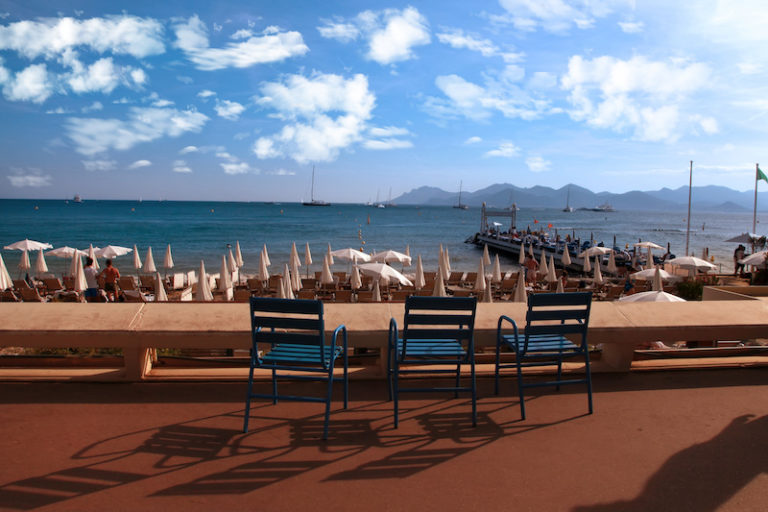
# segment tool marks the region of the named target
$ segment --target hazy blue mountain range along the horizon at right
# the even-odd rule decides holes
[[[395,204],[447,206],[458,203],[458,192],[447,192],[437,187],[419,187],[392,200]],[[578,185],[565,185],[554,189],[536,185],[530,188],[516,187],[509,183],[497,183],[475,192],[462,192],[461,202],[479,208],[502,208],[516,203],[525,208],[593,208],[610,204],[616,210],[685,211],[688,208],[688,187],[659,190],[632,190],[623,194],[592,192]],[[704,186],[691,189],[691,207],[695,211],[749,212],[754,205],[754,192],[739,192],[728,187]],[[768,210],[768,192],[758,193],[757,207]]]

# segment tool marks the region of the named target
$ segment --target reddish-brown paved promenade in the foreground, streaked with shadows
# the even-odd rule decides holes
[[[0,383],[2,510],[762,511],[768,370],[600,374],[528,402],[480,380],[403,402],[354,382],[321,405],[257,405],[244,383]]]

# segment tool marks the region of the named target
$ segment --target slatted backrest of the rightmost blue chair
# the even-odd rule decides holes
[[[579,344],[586,348],[591,307],[590,292],[529,295],[523,352],[531,336],[581,336]]]

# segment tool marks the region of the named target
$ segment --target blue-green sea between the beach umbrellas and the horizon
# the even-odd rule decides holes
[[[222,255],[234,249],[237,242],[244,259],[244,274],[258,271],[259,253],[265,244],[273,271],[288,262],[293,243],[302,264],[305,244],[309,244],[313,271],[321,269],[329,244],[332,250],[352,247],[367,253],[387,249],[404,252],[408,247],[414,261],[421,255],[426,270],[437,268],[440,245],[447,248],[453,270],[476,270],[482,254],[474,245],[465,243],[480,229],[480,208],[475,207],[461,210],[412,205],[375,208],[361,204],[308,207],[300,203],[0,199],[0,219],[3,247],[25,238],[84,250],[90,244],[136,244],[142,261],[152,248],[161,272],[169,244],[176,272],[198,269],[201,260],[209,272],[217,272]],[[498,221],[505,226],[508,222],[503,218]],[[685,253],[686,225],[685,212],[566,213],[560,208],[521,208],[517,212],[518,229],[543,229],[553,235],[568,234],[606,246],[613,245],[614,240],[619,247],[652,241],[664,247],[669,244],[671,252],[678,256]],[[725,240],[751,228],[751,213],[694,212],[689,253],[701,257],[706,250],[722,271],[731,271],[737,244]],[[18,274],[20,255],[19,251],[2,251],[13,277]],[[37,255],[30,257],[34,266]],[[503,269],[517,266],[516,259],[503,255],[500,261]],[[47,257],[46,262],[55,274],[63,273],[69,265],[68,260],[55,257]],[[132,255],[116,258],[114,264],[123,273],[134,272]],[[336,267],[344,270],[348,264],[337,262]],[[306,270],[302,267],[302,274]]]

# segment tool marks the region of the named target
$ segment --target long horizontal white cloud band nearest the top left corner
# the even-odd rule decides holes
[[[0,26],[0,50],[13,50],[28,59],[50,59],[80,46],[136,58],[158,55],[165,51],[163,25],[151,18],[119,15],[25,20]]]

